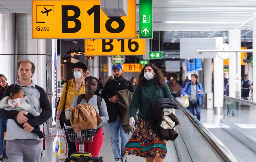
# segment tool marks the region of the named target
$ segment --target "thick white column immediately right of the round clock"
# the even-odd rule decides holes
[[[229,50],[241,50],[241,31],[228,30]],[[229,96],[241,98],[241,53],[229,52]]]

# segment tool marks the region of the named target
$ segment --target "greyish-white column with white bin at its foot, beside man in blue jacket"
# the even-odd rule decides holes
[[[212,93],[212,58],[204,58],[204,94],[206,97],[206,109],[213,109]]]

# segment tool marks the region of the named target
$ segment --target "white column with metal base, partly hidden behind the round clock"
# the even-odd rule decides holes
[[[215,38],[215,49],[223,43],[223,37],[214,37]],[[223,107],[223,59],[219,58],[215,54],[213,58],[213,97],[214,97],[214,114],[220,114]]]

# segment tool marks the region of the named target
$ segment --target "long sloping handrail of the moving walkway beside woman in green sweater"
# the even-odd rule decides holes
[[[225,162],[240,162],[239,159],[222,143],[220,142],[212,133],[205,128],[189,111],[185,108],[177,99],[173,98],[174,102],[178,104],[181,111],[188,117],[190,122],[196,127],[196,129],[201,133],[201,135],[211,144],[214,150],[219,154],[219,156]]]

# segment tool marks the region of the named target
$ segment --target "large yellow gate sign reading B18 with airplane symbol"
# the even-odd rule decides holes
[[[128,16],[108,17],[100,0],[32,0],[32,37],[135,38],[136,0],[128,0]]]

